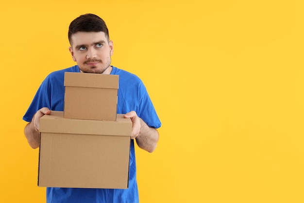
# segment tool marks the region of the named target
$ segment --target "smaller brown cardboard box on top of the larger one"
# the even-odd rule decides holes
[[[64,117],[116,120],[118,75],[65,73]]]

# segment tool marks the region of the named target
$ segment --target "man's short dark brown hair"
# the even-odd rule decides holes
[[[84,14],[74,19],[68,27],[68,41],[77,32],[104,32],[109,41],[109,31],[103,19],[95,14]]]

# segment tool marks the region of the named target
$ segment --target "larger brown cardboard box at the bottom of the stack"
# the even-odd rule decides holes
[[[128,188],[132,121],[40,118],[38,186]]]

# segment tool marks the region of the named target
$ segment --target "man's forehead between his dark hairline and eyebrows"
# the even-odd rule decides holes
[[[93,44],[98,41],[107,41],[104,32],[77,32],[71,36],[71,45]]]

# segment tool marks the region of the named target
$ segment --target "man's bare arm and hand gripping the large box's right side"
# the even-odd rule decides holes
[[[159,139],[158,131],[154,128],[150,128],[137,116],[135,111],[126,113],[124,117],[130,118],[133,123],[131,139],[136,139],[138,147],[150,153],[153,152]]]

